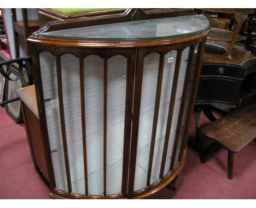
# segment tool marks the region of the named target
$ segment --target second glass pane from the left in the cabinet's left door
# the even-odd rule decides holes
[[[85,181],[83,180],[84,156],[79,58],[72,54],[64,54],[61,56],[61,77],[72,192],[84,194]]]

